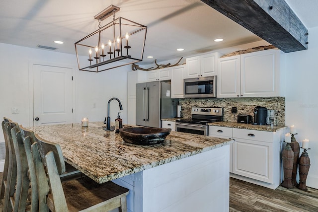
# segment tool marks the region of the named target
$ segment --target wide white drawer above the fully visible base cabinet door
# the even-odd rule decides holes
[[[274,133],[257,130],[233,129],[233,138],[264,141],[272,143],[274,141]]]

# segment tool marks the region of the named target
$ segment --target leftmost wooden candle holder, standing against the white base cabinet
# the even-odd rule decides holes
[[[283,168],[284,168],[284,181],[282,186],[288,189],[294,188],[292,183],[293,165],[294,165],[294,151],[290,143],[286,143],[282,153]]]

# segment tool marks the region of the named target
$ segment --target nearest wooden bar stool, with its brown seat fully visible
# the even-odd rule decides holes
[[[56,143],[43,140],[37,135],[35,138],[36,142],[32,144],[31,152],[38,180],[39,211],[106,212],[119,208],[120,212],[127,212],[126,196],[129,190],[111,181],[98,184],[88,177],[83,177],[61,183],[58,167],[64,171],[64,161],[59,160],[61,164],[57,164],[54,156],[54,154],[58,154],[63,157],[61,147]],[[29,137],[25,138],[25,143],[26,140],[29,140]],[[45,161],[40,156],[43,147],[48,150]]]

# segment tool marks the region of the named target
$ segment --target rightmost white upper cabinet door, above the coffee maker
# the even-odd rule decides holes
[[[243,97],[279,96],[279,51],[266,50],[241,55]]]

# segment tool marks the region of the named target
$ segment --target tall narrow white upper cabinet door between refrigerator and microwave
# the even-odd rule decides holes
[[[185,76],[185,66],[176,66],[171,69],[172,79],[171,79],[171,98],[181,99],[184,92],[183,79]]]

